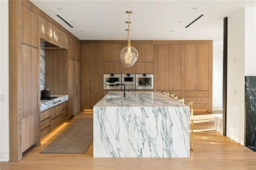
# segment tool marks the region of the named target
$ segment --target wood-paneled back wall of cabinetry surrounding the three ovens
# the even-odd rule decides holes
[[[81,72],[82,82],[89,82],[91,78],[88,79],[88,75],[99,77],[97,80],[91,80],[92,83],[99,81],[99,93],[94,93],[96,100],[100,100],[106,94],[106,91],[103,91],[104,73],[154,73],[154,91],[170,91],[185,98],[186,101],[194,101],[195,110],[212,112],[211,40],[132,41],[132,46],[138,50],[139,57],[130,68],[124,67],[120,60],[120,51],[127,46],[126,41],[82,40],[80,43],[81,65],[85,67]],[[97,73],[86,68],[90,67],[86,66],[86,61],[96,52],[90,48],[92,44],[98,45],[99,49],[96,51],[100,51],[100,55],[97,53],[96,58],[99,57],[99,60],[90,60],[90,63],[103,65],[97,69]],[[85,100],[92,97],[85,94],[84,87],[85,83],[82,83],[81,109],[92,109],[93,105],[89,106]]]

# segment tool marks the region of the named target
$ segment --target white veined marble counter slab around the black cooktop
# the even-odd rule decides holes
[[[68,95],[51,95],[51,96],[55,96],[58,98],[55,98],[52,100],[41,100],[40,112],[68,101]]]

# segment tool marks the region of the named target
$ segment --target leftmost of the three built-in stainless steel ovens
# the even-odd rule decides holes
[[[103,83],[104,90],[120,90],[121,74],[103,74]]]

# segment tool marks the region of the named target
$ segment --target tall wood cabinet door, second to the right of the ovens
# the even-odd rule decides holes
[[[181,90],[181,45],[170,44],[169,90]]]

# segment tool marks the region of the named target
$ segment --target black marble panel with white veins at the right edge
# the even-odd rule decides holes
[[[256,76],[245,77],[245,146],[256,152]]]

